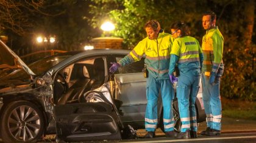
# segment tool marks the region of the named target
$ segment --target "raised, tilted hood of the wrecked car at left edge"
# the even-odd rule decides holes
[[[27,74],[35,75],[20,57],[0,40],[0,74],[7,75],[13,69],[24,69]]]

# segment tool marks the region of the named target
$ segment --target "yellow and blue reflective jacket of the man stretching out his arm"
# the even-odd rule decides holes
[[[155,78],[168,79],[169,59],[173,38],[169,33],[159,33],[158,38],[144,38],[134,47],[130,54],[118,61],[121,66],[139,61],[146,55],[145,63],[149,74]]]

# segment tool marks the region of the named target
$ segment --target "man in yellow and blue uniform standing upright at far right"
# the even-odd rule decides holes
[[[207,128],[203,135],[221,134],[221,96],[219,94],[220,78],[224,71],[222,61],[224,38],[219,32],[214,12],[202,16],[202,26],[206,34],[202,38],[202,97],[206,114]]]

